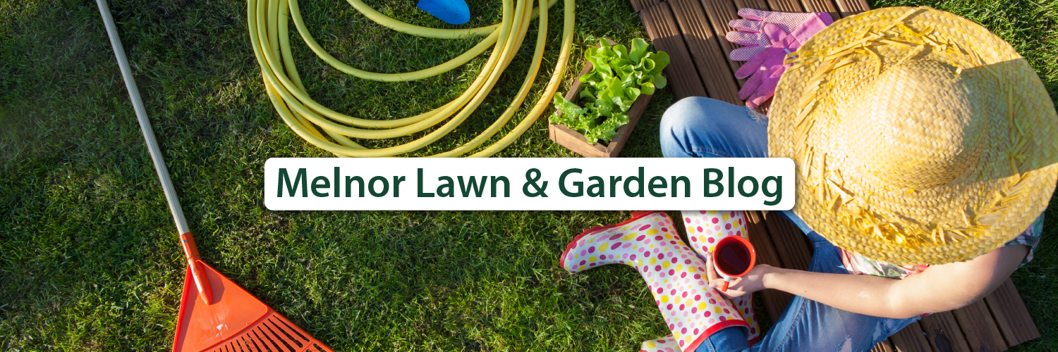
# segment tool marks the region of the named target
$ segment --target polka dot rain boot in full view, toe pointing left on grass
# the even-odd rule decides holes
[[[706,262],[662,211],[637,211],[628,221],[585,230],[560,257],[572,274],[613,263],[630,265],[643,277],[680,351],[694,351],[724,328],[749,329],[731,302],[709,288]]]

